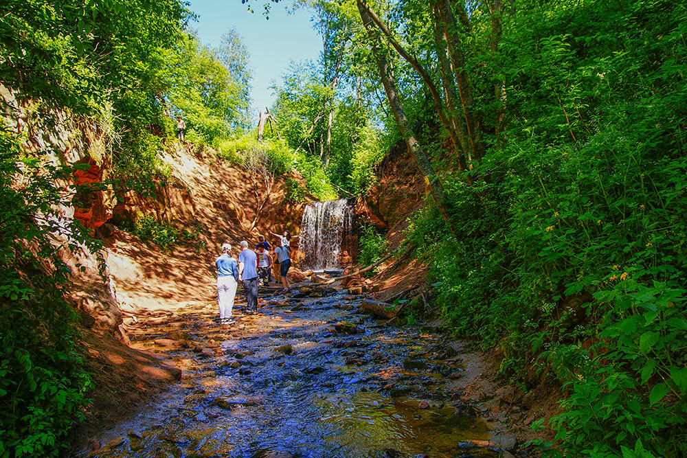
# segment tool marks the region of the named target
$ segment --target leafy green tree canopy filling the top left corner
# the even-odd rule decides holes
[[[0,5],[0,80],[18,98],[80,115],[113,111],[121,172],[157,174],[164,136],[164,56],[189,12],[179,0],[18,0]],[[45,108],[44,107],[44,108]],[[153,138],[157,137],[157,138]]]

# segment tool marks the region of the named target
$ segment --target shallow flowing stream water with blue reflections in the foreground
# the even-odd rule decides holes
[[[273,308],[262,318],[264,334],[224,341],[223,356],[201,360],[177,398],[146,409],[155,415],[117,426],[105,437],[124,440],[88,455],[248,458],[288,450],[302,458],[498,456],[486,449],[464,455],[462,441],[491,438],[486,424],[425,390],[442,380],[433,366],[440,363],[427,358],[437,339],[363,317],[363,334],[333,334],[328,323],[351,319],[335,307],[343,301],[343,295],[310,300],[289,314]],[[188,325],[194,326],[192,319]],[[403,369],[414,355],[424,356],[429,369]],[[190,350],[174,356],[193,357]],[[389,374],[407,396],[390,396]],[[419,408],[423,399],[429,408]]]

